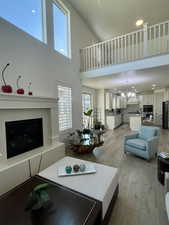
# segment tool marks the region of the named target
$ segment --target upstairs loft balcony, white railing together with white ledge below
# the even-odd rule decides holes
[[[84,77],[109,75],[169,64],[169,21],[81,49]]]

